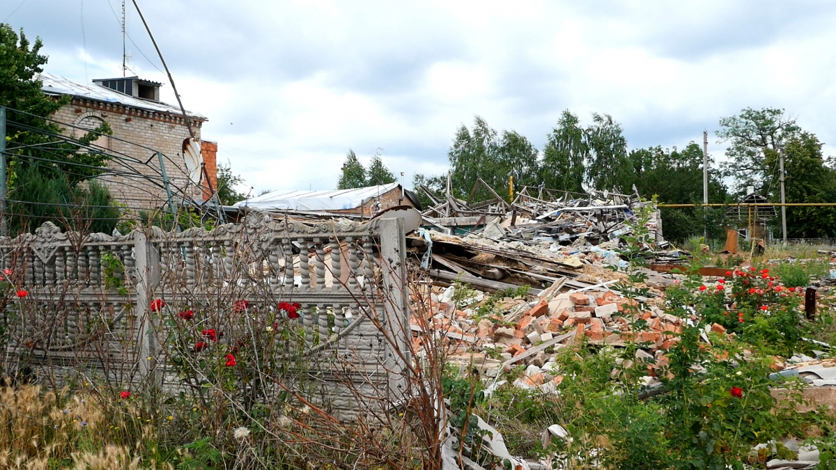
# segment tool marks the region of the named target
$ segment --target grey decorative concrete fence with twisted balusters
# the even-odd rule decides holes
[[[200,386],[172,367],[178,309],[212,311],[206,328],[232,331],[242,327],[229,319],[245,314],[252,328],[251,316],[257,323],[287,301],[301,305],[293,331],[306,374],[323,401],[350,416],[359,396],[391,401],[405,390],[404,256],[399,219],[307,224],[252,212],[212,231],[116,236],[46,222],[34,235],[0,238],[0,264],[11,273],[3,281],[6,370],[54,385]],[[18,298],[18,289],[28,295]]]

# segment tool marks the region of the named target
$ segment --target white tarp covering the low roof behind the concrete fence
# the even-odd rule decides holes
[[[354,209],[372,198],[379,197],[395,188],[399,183],[358,187],[355,189],[327,191],[273,191],[246,201],[236,202],[236,207],[253,209],[285,209],[292,211],[341,211]]]

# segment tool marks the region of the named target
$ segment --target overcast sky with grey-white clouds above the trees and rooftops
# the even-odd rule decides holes
[[[219,161],[265,189],[330,189],[349,148],[409,183],[446,171],[481,115],[542,148],[562,110],[613,115],[630,148],[685,146],[745,107],[836,141],[836,3],[139,0]],[[120,0],[3,0],[46,70],[121,76]],[[130,68],[170,81],[128,6]],[[836,147],[826,146],[827,155]]]

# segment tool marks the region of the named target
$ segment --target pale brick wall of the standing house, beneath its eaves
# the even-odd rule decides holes
[[[186,121],[181,117],[126,108],[113,103],[74,99],[72,103],[58,110],[53,118],[69,125],[96,120],[104,120],[110,124],[113,135],[102,139],[99,145],[108,146],[116,155],[135,160],[110,161],[108,166],[123,174],[109,174],[98,178],[108,186],[116,201],[128,207],[142,208],[163,207],[166,204],[168,198],[162,183],[160,161],[155,156],[155,151],[164,155],[166,176],[176,202],[180,202],[183,197],[202,197],[201,188],[189,180],[186,163],[183,161],[183,140],[190,135]],[[197,139],[200,139],[201,124],[202,120],[192,120],[192,129]],[[71,127],[65,128],[65,132],[75,137],[84,135],[84,130]]]

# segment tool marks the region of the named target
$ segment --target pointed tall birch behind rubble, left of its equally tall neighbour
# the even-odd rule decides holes
[[[550,189],[583,192],[588,159],[589,145],[578,116],[563,110],[543,147],[543,183]]]

